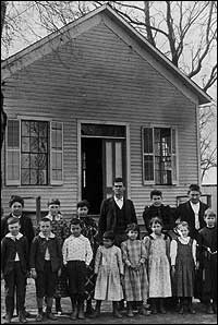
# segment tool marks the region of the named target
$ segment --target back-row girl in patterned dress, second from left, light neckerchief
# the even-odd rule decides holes
[[[70,231],[66,221],[63,219],[60,213],[60,201],[52,198],[48,202],[48,215],[46,216],[51,220],[52,232],[57,236],[61,246],[63,241],[69,237]],[[61,276],[58,278],[55,299],[56,299],[56,312],[61,315],[61,298],[69,297],[65,268],[62,268]]]

